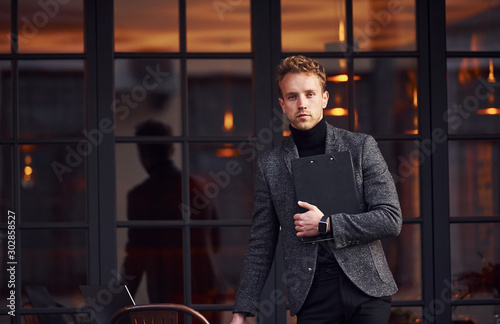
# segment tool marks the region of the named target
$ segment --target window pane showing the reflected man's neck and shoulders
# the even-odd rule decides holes
[[[140,129],[150,134],[164,131],[147,124]],[[115,148],[117,219],[182,219],[181,145],[116,144]]]

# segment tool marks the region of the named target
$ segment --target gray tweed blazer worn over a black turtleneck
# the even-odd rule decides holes
[[[330,215],[333,240],[328,241],[340,267],[370,296],[397,291],[380,239],[401,231],[402,218],[394,181],[370,135],[327,127],[326,153],[350,151],[354,166],[359,214]],[[255,315],[281,232],[290,314],[300,310],[316,269],[318,244],[297,238],[293,215],[299,212],[291,171],[298,158],[292,139],[262,154],[257,161],[250,242],[233,312]]]

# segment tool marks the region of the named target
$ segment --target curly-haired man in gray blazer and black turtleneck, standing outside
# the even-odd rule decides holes
[[[394,181],[373,137],[335,128],[323,119],[329,94],[324,68],[304,56],[277,68],[279,103],[292,135],[259,157],[253,223],[232,324],[254,316],[281,232],[290,314],[298,324],[387,323],[397,291],[380,239],[401,231]],[[319,234],[323,213],[295,200],[291,160],[349,151],[361,213],[326,215],[327,243]],[[299,212],[300,207],[306,212]]]

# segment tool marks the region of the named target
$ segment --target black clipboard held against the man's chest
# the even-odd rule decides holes
[[[317,206],[325,215],[360,212],[349,151],[308,156],[291,162],[297,200]],[[303,237],[302,241],[313,243],[332,239],[331,233],[327,233]]]

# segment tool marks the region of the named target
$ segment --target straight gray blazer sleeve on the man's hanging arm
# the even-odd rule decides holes
[[[260,295],[271,270],[279,236],[279,221],[264,169],[259,158],[250,240],[233,307],[233,313],[248,313],[249,316],[257,314]]]

